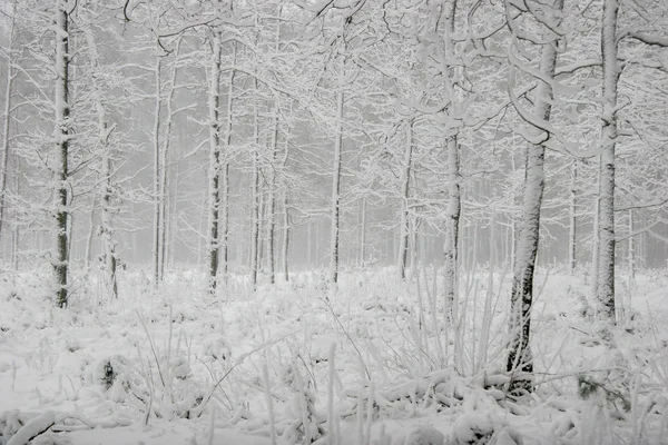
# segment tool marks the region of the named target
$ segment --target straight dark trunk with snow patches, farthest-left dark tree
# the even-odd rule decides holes
[[[69,240],[69,13],[65,1],[56,9],[56,134],[58,150],[56,207],[56,301],[61,308],[68,305]]]

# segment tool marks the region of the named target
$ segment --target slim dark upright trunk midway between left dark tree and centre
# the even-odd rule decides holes
[[[220,207],[220,34],[212,34],[214,51],[209,72],[209,239],[208,293],[216,294],[218,285],[218,210]]]

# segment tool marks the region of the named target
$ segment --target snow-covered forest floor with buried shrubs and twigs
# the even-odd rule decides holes
[[[639,275],[631,298],[619,281],[606,339],[584,277],[541,270],[523,397],[502,372],[510,276],[462,277],[448,323],[438,274],[394,275],[343,273],[334,291],[302,273],[256,293],[233,277],[212,298],[203,275],[155,290],[128,273],[104,304],[81,277],[65,310],[48,274],[7,278],[0,444],[668,444],[665,275]]]

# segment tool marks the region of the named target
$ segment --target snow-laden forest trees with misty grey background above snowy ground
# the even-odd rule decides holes
[[[342,264],[433,261],[450,308],[485,263],[512,271],[508,369],[531,372],[539,254],[586,270],[611,323],[616,273],[665,263],[662,0],[1,12],[2,259],[50,265],[61,307],[75,269],[116,296],[139,245],[156,286],[189,249],[212,294],[230,273],[287,280],[294,253],[332,284]]]

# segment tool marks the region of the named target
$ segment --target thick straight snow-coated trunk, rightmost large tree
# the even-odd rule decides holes
[[[599,191],[597,299],[601,315],[616,323],[615,314],[615,146],[617,141],[617,14],[618,0],[603,2],[601,53],[603,56],[603,93],[601,113],[601,164]]]

